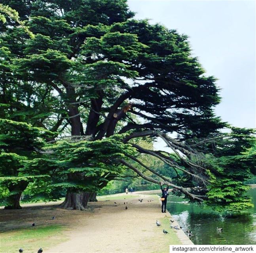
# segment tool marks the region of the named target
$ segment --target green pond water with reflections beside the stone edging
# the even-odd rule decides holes
[[[254,208],[242,215],[220,215],[176,196],[169,196],[167,209],[184,231],[192,231],[190,239],[194,244],[256,244],[256,188],[248,194]],[[223,232],[218,232],[217,227]]]

